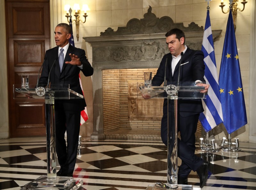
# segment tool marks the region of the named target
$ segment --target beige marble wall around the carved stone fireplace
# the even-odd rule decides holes
[[[241,7],[242,0],[239,0],[238,7]],[[88,4],[90,11],[87,11],[88,17],[86,18],[86,23],[81,24],[80,23],[80,38],[79,41],[76,40],[75,37],[75,46],[78,48],[83,48],[86,51],[86,55],[88,57],[88,60],[92,63],[92,48],[90,44],[83,41],[82,37],[85,36],[99,36],[100,32],[104,32],[108,27],[111,27],[115,31],[117,30],[118,26],[126,26],[126,23],[132,19],[132,18],[143,18],[143,15],[148,11],[148,5],[152,7],[152,12],[156,14],[157,17],[161,18],[163,16],[169,16],[173,19],[174,22],[183,22],[185,26],[188,26],[191,22],[195,22],[199,26],[205,25],[205,18],[206,18],[206,7],[207,3],[205,0],[50,0],[51,2],[51,28],[52,31],[54,30],[54,27],[59,22],[65,22],[67,23],[67,18],[64,16],[64,6],[65,4],[70,4],[71,8],[73,8],[74,3],[80,4],[82,7],[82,4]],[[2,6],[3,1],[1,1],[1,9],[3,10]],[[224,11],[228,9],[228,0],[224,0],[224,4],[226,6],[224,7]],[[219,72],[220,69],[220,61],[221,61],[221,54],[222,54],[222,48],[224,43],[224,37],[226,32],[226,25],[227,25],[227,19],[228,14],[223,14],[221,12],[221,8],[219,7],[220,0],[212,0],[210,2],[210,18],[211,18],[211,26],[212,30],[223,30],[220,36],[220,39],[218,39],[215,42],[215,56],[216,56],[216,63],[217,63],[217,69]],[[238,48],[238,54],[239,54],[239,62],[240,62],[240,68],[241,68],[241,75],[242,75],[242,81],[243,81],[243,87],[244,87],[244,95],[245,95],[245,104],[246,104],[246,110],[247,110],[247,117],[248,122],[254,121],[250,120],[249,116],[250,113],[254,113],[255,108],[251,108],[249,112],[249,105],[252,102],[249,102],[249,94],[251,93],[251,88],[249,88],[250,83],[250,68],[252,68],[252,57],[250,54],[250,51],[252,48],[255,47],[255,44],[251,45],[252,40],[252,33],[254,30],[252,30],[252,26],[254,26],[255,20],[252,18],[252,14],[254,13],[254,1],[248,0],[248,3],[245,6],[245,10],[243,12],[238,11],[237,12],[237,22],[236,22],[236,41],[237,41],[237,48]],[[4,15],[4,11],[1,11],[1,15]],[[83,19],[83,17],[81,18]],[[3,17],[1,17],[1,21],[3,22]],[[3,25],[1,25],[3,26]],[[73,22],[73,31],[76,33],[76,27],[75,23]],[[4,33],[3,27],[0,29],[0,34]],[[4,38],[1,35],[1,38]],[[51,46],[54,47],[54,39],[52,35],[52,44]],[[3,43],[3,40],[1,40],[1,43]],[[3,47],[3,46],[2,46]],[[2,53],[4,50],[0,50]],[[5,54],[4,54],[5,55]],[[249,60],[249,57],[251,57],[251,60]],[[251,62],[251,64],[250,64]],[[1,62],[0,64],[4,64],[6,62]],[[6,64],[4,64],[6,66]],[[6,70],[5,70],[6,71]],[[2,70],[0,72],[3,72]],[[6,81],[6,73],[4,72],[5,76],[1,75],[1,85],[3,84],[2,81]],[[251,74],[252,75],[252,74]],[[253,77],[255,78],[255,77]],[[2,80],[3,79],[3,80]],[[92,102],[93,102],[93,96],[92,96],[92,80],[90,77],[82,77],[82,83],[84,86],[85,91],[85,98],[87,102],[87,111],[89,115],[89,120],[84,124],[81,128],[81,135],[83,136],[90,136],[92,133]],[[7,84],[7,83],[4,83]],[[5,86],[1,86],[5,87]],[[249,90],[250,89],[250,90]],[[1,95],[1,102],[2,98],[5,97],[7,99],[7,96],[2,96],[2,91],[0,93]],[[252,101],[252,99],[251,99]],[[8,119],[6,119],[8,116],[7,114],[7,101],[4,101],[4,106],[2,106],[3,103],[1,103],[0,108],[0,127],[1,127],[1,133],[2,128],[6,130],[8,127]],[[3,116],[4,115],[4,116]],[[4,120],[2,118],[4,117]],[[253,117],[253,116],[252,116]],[[254,116],[255,117],[255,116]],[[4,122],[6,121],[6,122]],[[255,121],[254,121],[255,123]],[[252,128],[252,126],[251,126]],[[223,136],[224,134],[220,134],[219,136]],[[247,124],[245,127],[242,127],[241,129],[236,131],[236,136],[238,135],[238,138],[240,138],[240,141],[248,141],[249,139],[249,124]]]

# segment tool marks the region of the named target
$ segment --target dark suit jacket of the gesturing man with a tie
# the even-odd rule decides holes
[[[55,61],[50,74],[51,84],[70,84],[71,90],[83,95],[79,82],[79,73],[82,71],[86,77],[93,74],[93,68],[86,59],[85,51],[80,48],[75,48],[69,44],[61,72],[58,59],[58,51],[58,46],[46,51],[44,57],[45,62],[43,65],[39,84],[47,84],[50,69]],[[69,54],[75,54],[80,58],[80,61],[83,65],[82,70],[76,65],[65,63],[66,61],[71,61]],[[82,111],[86,106],[84,99],[55,100],[56,108],[58,103],[63,104],[64,109],[69,111]]]

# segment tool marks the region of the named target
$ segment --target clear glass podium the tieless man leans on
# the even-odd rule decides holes
[[[192,185],[179,185],[178,176],[178,99],[205,99],[206,94],[201,93],[204,86],[197,86],[195,82],[177,82],[167,83],[166,86],[143,86],[138,83],[138,98],[159,98],[167,99],[167,113],[173,109],[174,128],[170,130],[167,127],[167,183],[162,183],[165,189],[193,189]],[[169,107],[169,101],[173,101],[173,107]],[[167,126],[172,122],[167,114]],[[149,185],[147,190],[164,189],[159,185]]]

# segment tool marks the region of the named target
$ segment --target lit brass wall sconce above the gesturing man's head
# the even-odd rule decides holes
[[[88,15],[86,15],[86,11],[89,11],[90,9],[89,9],[87,4],[83,5],[82,11],[84,11],[84,15],[83,15],[84,22],[82,20],[80,20],[80,16],[79,15],[80,15],[81,11],[80,11],[79,4],[74,4],[74,10],[75,10],[74,16],[76,17],[76,20],[72,20],[72,16],[71,16],[72,9],[70,8],[69,5],[65,5],[64,10],[67,11],[67,15],[65,16],[65,17],[67,17],[67,20],[69,18],[69,19],[71,19],[71,22],[73,22],[73,21],[76,22],[76,39],[78,41],[78,39],[79,39],[79,22],[85,23],[86,17],[88,16]],[[68,20],[68,23],[69,23],[69,20]]]

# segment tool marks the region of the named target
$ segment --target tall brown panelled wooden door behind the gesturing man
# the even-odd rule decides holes
[[[10,137],[45,136],[44,99],[13,99],[21,75],[36,84],[50,48],[49,0],[5,0]]]

